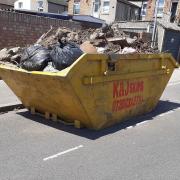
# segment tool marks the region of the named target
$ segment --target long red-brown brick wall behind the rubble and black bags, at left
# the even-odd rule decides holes
[[[0,10],[0,49],[32,44],[43,33],[47,32],[50,26],[71,29],[82,27],[78,22]]]

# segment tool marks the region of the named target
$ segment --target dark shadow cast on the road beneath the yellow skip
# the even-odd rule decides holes
[[[89,130],[86,128],[77,129],[77,128],[74,128],[73,126],[67,126],[67,125],[64,125],[59,122],[57,123],[57,122],[53,122],[53,121],[47,121],[43,117],[40,117],[37,115],[31,115],[29,111],[18,112],[18,114],[20,114],[32,121],[39,122],[39,123],[42,123],[47,126],[51,126],[53,128],[59,129],[61,131],[65,131],[65,132],[72,133],[72,134],[75,134],[78,136],[82,136],[82,137],[85,137],[85,138],[88,138],[91,140],[95,140],[102,136],[115,133],[122,129],[126,129],[129,126],[136,126],[137,123],[140,123],[143,121],[154,120],[154,117],[156,117],[162,113],[165,113],[165,112],[168,112],[171,110],[175,110],[179,107],[180,107],[180,103],[175,103],[175,102],[170,102],[170,101],[159,101],[157,107],[151,113],[148,113],[146,115],[139,116],[136,118],[131,118],[127,121],[121,122],[119,124],[116,124],[112,127],[109,127],[109,128],[106,128],[106,129],[103,129],[100,131]]]

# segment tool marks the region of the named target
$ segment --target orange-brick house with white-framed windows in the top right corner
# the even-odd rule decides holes
[[[146,20],[153,20],[156,0],[148,0],[146,7]],[[180,19],[180,0],[159,0],[157,17],[162,18],[164,14],[169,15],[171,22],[179,21]],[[167,16],[166,16],[167,17]]]

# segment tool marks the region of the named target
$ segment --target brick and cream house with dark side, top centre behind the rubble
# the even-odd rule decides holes
[[[68,14],[90,15],[112,23],[138,20],[140,7],[127,0],[69,0]]]

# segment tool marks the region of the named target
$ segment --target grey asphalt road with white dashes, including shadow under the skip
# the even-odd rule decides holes
[[[179,180],[180,80],[150,114],[94,132],[0,115],[0,180]]]

